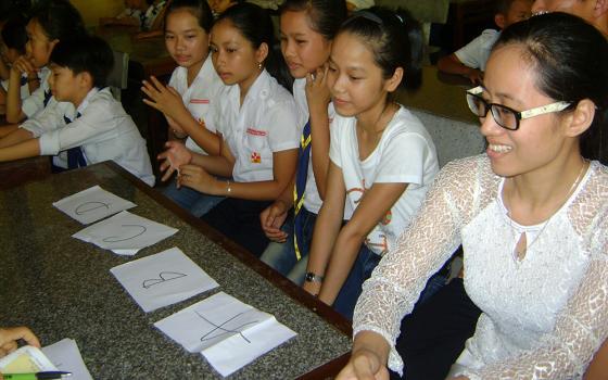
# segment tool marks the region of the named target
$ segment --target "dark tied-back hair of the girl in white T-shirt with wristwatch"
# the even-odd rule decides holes
[[[342,24],[339,34],[342,33],[359,37],[369,47],[384,79],[402,67],[400,87],[416,90],[422,84],[422,30],[407,11],[380,7],[358,11]]]

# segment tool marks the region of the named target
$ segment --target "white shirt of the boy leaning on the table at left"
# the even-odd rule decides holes
[[[149,186],[154,185],[145,140],[109,88],[89,91],[72,113],[58,103],[22,127],[39,138],[40,154],[54,155],[80,147],[87,164],[112,160]],[[80,114],[79,117],[76,117]],[[67,124],[64,115],[73,122]]]

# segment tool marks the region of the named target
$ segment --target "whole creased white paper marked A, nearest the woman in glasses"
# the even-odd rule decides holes
[[[270,314],[219,292],[154,326],[228,376],[294,337]]]

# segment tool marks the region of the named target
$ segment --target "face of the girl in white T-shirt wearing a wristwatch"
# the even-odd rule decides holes
[[[380,114],[388,92],[398,85],[398,81],[394,84],[384,79],[382,74],[371,50],[360,41],[360,37],[350,33],[335,37],[327,83],[340,115],[369,118],[369,115]]]

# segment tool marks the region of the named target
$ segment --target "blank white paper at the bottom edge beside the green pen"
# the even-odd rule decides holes
[[[72,372],[71,380],[92,380],[89,369],[83,360],[76,341],[69,338],[42,347],[42,352],[59,368]]]

